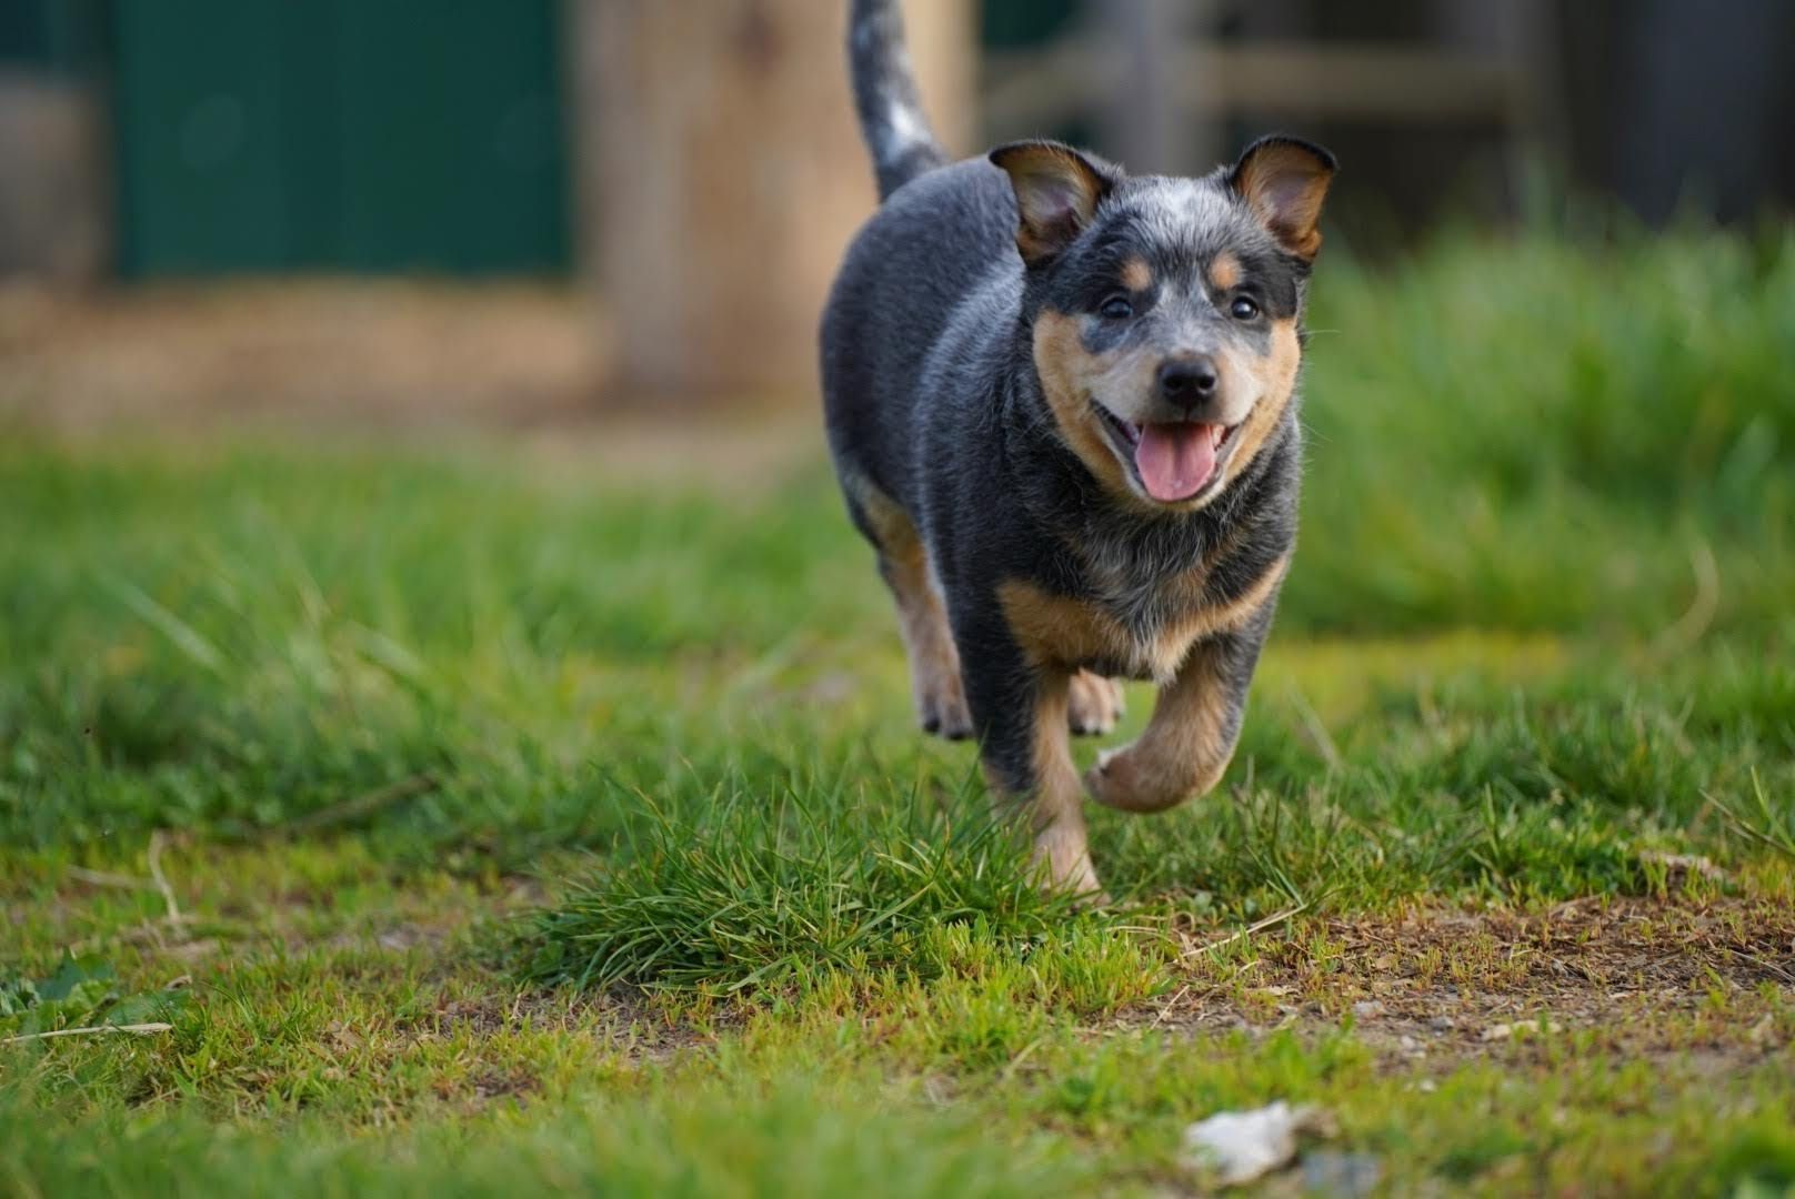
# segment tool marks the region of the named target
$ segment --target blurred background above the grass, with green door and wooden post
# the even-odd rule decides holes
[[[538,424],[808,407],[872,206],[835,0],[4,0],[0,409]],[[910,0],[957,153],[1346,171],[1330,246],[1761,228],[1782,0]],[[1581,226],[1578,223],[1583,223]]]

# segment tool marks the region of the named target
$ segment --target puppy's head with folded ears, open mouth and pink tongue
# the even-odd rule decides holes
[[[1276,429],[1334,156],[1262,138],[1201,179],[1057,142],[991,153],[1016,190],[1034,364],[1061,438],[1116,495],[1188,512]]]

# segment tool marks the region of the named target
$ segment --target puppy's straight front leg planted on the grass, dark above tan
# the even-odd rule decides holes
[[[1029,813],[1034,858],[1045,863],[1048,883],[1100,897],[1084,835],[1084,784],[1072,761],[1066,720],[1072,675],[1027,664],[1000,626],[957,632],[985,781]]]

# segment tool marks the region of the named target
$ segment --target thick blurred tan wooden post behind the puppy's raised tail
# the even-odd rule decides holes
[[[845,0],[567,0],[580,242],[621,402],[808,398],[817,316],[872,212]],[[924,106],[973,127],[968,0],[908,0]]]

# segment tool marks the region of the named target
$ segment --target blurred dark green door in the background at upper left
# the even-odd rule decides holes
[[[556,0],[115,0],[126,275],[556,273]]]

